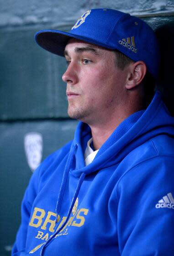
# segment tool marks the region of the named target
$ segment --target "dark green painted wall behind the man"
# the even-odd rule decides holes
[[[42,160],[73,138],[77,121],[67,115],[65,60],[39,48],[40,29],[69,30],[91,8],[114,8],[140,16],[158,29],[162,59],[158,86],[172,113],[174,0],[1,0],[0,8],[0,256],[11,254],[20,204],[32,174],[24,138],[42,136]]]

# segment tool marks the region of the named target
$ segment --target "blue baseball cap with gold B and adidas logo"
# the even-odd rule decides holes
[[[141,19],[111,9],[86,11],[69,32],[41,30],[36,33],[38,45],[64,56],[70,38],[76,38],[108,49],[117,49],[134,61],[142,60],[154,78],[158,76],[160,49],[153,29]]]

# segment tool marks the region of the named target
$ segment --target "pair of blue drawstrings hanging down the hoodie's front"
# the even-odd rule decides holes
[[[74,146],[74,150],[71,154],[71,156],[69,157],[69,159],[67,160],[67,164],[65,166],[65,170],[64,170],[64,173],[63,173],[63,179],[62,179],[62,184],[61,184],[61,187],[60,187],[60,192],[59,192],[59,195],[58,195],[58,201],[57,201],[57,205],[56,205],[56,223],[58,222],[58,213],[60,212],[60,209],[61,209],[61,204],[62,204],[62,200],[63,200],[63,196],[64,196],[64,193],[65,193],[65,187],[66,187],[66,182],[67,182],[67,179],[68,179],[68,176],[69,176],[69,166],[71,164],[71,161],[74,157],[74,153],[75,153],[75,150],[77,148],[77,144],[75,144]],[[80,191],[80,188],[81,188],[81,185],[84,181],[84,178],[85,178],[85,174],[82,173],[80,178],[79,178],[79,182],[77,184],[77,188],[75,190],[75,193],[74,193],[74,197],[72,199],[72,202],[71,202],[71,205],[69,207],[69,212],[67,214],[67,218],[65,219],[64,223],[61,225],[61,227],[47,240],[47,242],[43,245],[42,247],[42,250],[41,250],[41,253],[40,253],[40,256],[43,256],[43,252],[44,252],[44,248],[47,246],[47,244],[61,231],[61,229],[63,229],[63,227],[67,224],[68,220],[69,220],[69,216],[73,210],[73,207],[74,207],[74,203],[78,197],[78,194],[79,194],[79,191]]]

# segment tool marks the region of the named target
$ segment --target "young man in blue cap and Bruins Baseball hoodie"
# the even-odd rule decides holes
[[[159,64],[152,29],[94,9],[36,40],[65,55],[68,113],[80,122],[34,172],[13,255],[173,255],[174,118],[159,92],[147,100]]]

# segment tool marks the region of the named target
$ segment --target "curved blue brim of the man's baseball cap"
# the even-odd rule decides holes
[[[88,43],[93,43],[101,47],[108,48],[108,45],[99,42],[89,37],[82,37],[80,35],[72,34],[69,32],[63,32],[59,30],[41,30],[36,33],[35,40],[39,46],[45,50],[64,56],[64,49],[70,38],[76,38]],[[109,49],[114,49],[110,47]]]

